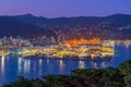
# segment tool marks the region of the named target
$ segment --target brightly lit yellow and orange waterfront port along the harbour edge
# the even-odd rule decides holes
[[[68,46],[67,46],[68,45]],[[45,47],[1,47],[0,55],[21,55],[22,58],[48,58],[60,60],[104,60],[114,57],[115,41],[112,40],[71,40],[66,44]]]

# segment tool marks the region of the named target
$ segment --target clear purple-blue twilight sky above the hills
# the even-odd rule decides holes
[[[131,0],[0,0],[0,15],[105,16],[131,14]]]

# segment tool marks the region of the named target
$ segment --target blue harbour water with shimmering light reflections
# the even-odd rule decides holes
[[[124,45],[115,47],[115,57],[110,61],[86,62],[86,61],[62,61],[62,60],[41,60],[22,59],[20,57],[0,58],[0,87],[2,84],[13,82],[17,76],[28,78],[40,77],[46,74],[70,74],[74,69],[88,67],[117,67],[122,61],[131,59],[131,46]]]

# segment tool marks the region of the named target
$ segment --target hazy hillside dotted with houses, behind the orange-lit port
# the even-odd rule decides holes
[[[32,14],[15,16],[19,21],[48,27],[60,32],[68,38],[99,37],[103,39],[131,38],[131,15],[115,14],[109,16],[78,16],[78,17],[37,17]]]

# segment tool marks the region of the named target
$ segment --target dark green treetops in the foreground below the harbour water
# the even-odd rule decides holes
[[[36,79],[19,77],[3,87],[131,87],[131,60],[118,69],[78,69],[70,75],[46,75]]]

